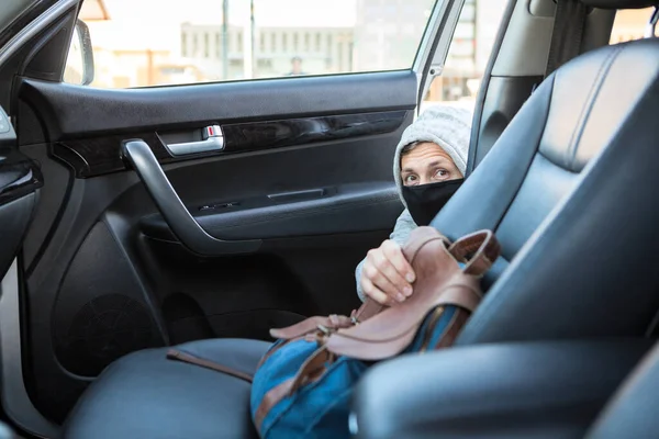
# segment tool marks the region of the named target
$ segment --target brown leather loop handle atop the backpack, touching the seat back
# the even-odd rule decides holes
[[[466,263],[466,274],[483,275],[499,258],[501,245],[492,230],[479,230],[463,236],[448,247],[448,252]]]

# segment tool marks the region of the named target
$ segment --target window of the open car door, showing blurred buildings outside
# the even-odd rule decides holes
[[[443,0],[437,0],[442,2]],[[93,87],[412,67],[435,0],[93,0]],[[224,9],[226,8],[226,20]],[[99,14],[98,11],[104,11]],[[101,16],[102,15],[102,16]],[[75,38],[74,38],[75,40]],[[74,57],[65,80],[79,83]]]

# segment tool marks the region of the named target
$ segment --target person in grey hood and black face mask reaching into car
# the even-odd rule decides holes
[[[467,168],[471,112],[438,104],[426,110],[401,137],[393,176],[405,210],[389,239],[369,250],[355,270],[357,293],[386,305],[413,293],[415,273],[402,246],[417,226],[429,225],[462,184]]]

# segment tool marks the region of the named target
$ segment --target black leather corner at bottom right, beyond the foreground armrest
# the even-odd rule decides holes
[[[588,439],[659,437],[659,345],[636,368],[589,431]]]

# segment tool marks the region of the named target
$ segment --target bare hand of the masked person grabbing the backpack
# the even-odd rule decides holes
[[[391,306],[412,295],[415,279],[401,247],[387,239],[380,247],[369,250],[359,283],[365,295]]]

